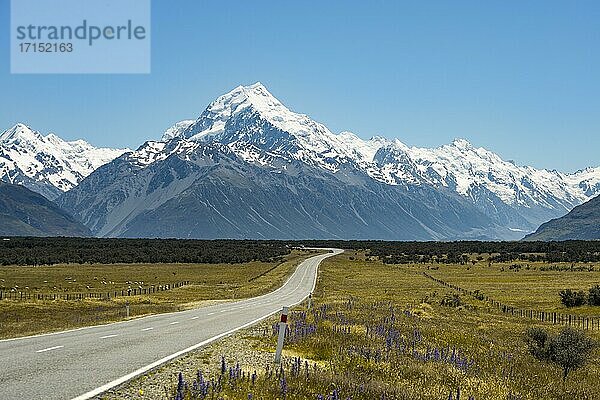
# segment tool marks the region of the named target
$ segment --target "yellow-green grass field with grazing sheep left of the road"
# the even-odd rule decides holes
[[[295,250],[283,261],[243,264],[58,264],[0,267],[0,290],[86,293],[174,282],[190,285],[151,295],[110,300],[0,301],[0,338],[25,336],[172,312],[214,301],[254,297],[281,286],[314,252]]]

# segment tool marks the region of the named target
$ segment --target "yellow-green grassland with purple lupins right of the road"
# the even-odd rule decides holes
[[[600,279],[597,271],[507,272],[509,265],[429,271],[498,300],[542,309],[559,308],[557,289],[587,288]],[[528,327],[560,327],[501,314],[468,296],[461,295],[459,306],[443,306],[444,297],[457,293],[423,271],[427,266],[384,265],[360,253],[325,261],[315,306],[299,307],[290,318],[283,373],[265,365],[255,375],[255,366],[244,369],[238,360],[238,367],[235,354],[225,354],[225,373],[218,364],[198,365],[202,379],[183,376],[179,388],[172,381],[171,398],[441,400],[451,393],[456,399],[458,390],[461,399],[476,400],[600,398],[598,349],[563,382],[560,369],[535,360],[524,341]],[[598,331],[588,334],[600,340]],[[276,336],[269,329],[253,340],[262,354],[273,351]],[[198,388],[208,388],[206,397]]]

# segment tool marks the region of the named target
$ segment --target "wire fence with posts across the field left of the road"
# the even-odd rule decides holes
[[[164,292],[189,285],[190,281],[167,283],[164,285],[152,285],[147,287],[128,288],[108,292],[86,292],[86,293],[32,293],[32,292],[6,292],[0,291],[0,300],[84,300],[99,299],[110,300],[115,297],[139,296]]]

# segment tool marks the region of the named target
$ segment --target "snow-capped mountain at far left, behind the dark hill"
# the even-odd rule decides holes
[[[54,199],[127,151],[96,148],[83,140],[66,142],[16,124],[0,135],[0,180]]]

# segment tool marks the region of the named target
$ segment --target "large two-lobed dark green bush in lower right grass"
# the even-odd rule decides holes
[[[531,355],[540,361],[551,362],[563,371],[563,380],[590,360],[596,343],[580,330],[563,328],[556,336],[541,328],[530,328],[526,333]]]

